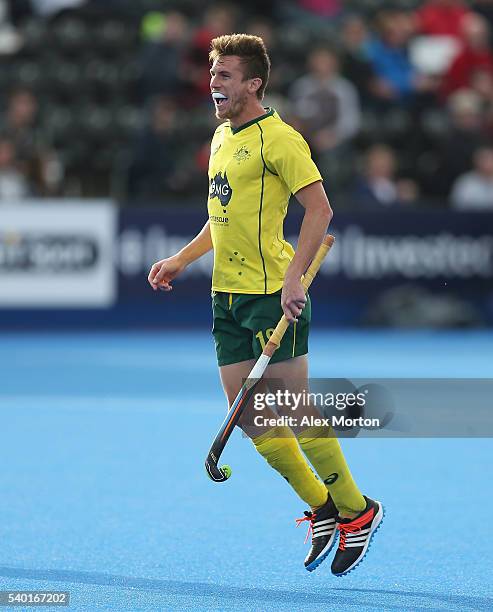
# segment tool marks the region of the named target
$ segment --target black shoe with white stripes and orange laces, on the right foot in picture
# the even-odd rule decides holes
[[[365,496],[364,496],[365,497]],[[332,573],[344,576],[361,563],[370,546],[373,534],[383,520],[383,506],[365,497],[366,508],[353,519],[337,519],[339,548],[332,561]]]

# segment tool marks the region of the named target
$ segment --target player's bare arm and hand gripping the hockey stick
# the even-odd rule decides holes
[[[332,219],[332,209],[320,181],[303,187],[295,195],[305,209],[305,216],[298,247],[286,270],[281,294],[281,306],[290,323],[296,321],[306,304],[300,279],[322,244]]]

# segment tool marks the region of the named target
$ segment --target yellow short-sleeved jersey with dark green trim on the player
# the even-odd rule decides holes
[[[274,109],[215,131],[209,160],[213,291],[281,289],[294,249],[284,239],[290,195],[322,177],[301,134]]]

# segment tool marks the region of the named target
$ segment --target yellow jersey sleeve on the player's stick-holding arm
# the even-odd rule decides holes
[[[311,158],[310,147],[296,130],[272,134],[266,143],[264,162],[268,170],[279,175],[291,193],[322,180]]]

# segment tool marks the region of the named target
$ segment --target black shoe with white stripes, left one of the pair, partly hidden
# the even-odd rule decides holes
[[[305,559],[305,568],[309,572],[313,572],[332,550],[337,535],[336,518],[337,508],[329,496],[325,505],[316,512],[305,511],[303,518],[296,519],[298,527],[304,521],[309,521],[305,539],[306,542],[312,534],[312,546]]]

